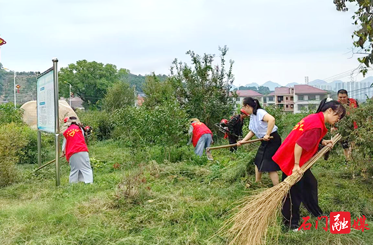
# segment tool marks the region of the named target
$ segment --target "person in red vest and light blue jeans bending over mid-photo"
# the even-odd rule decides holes
[[[192,137],[189,139],[187,145],[193,143],[194,153],[202,156],[203,150],[213,144],[213,132],[211,132],[205,123],[201,123],[197,118],[192,118],[190,123],[188,134],[192,134]]]

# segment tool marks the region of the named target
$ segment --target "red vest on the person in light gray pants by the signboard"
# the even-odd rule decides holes
[[[68,129],[63,132],[66,139],[66,160],[69,162],[70,157],[75,153],[87,151],[88,148],[85,144],[83,133],[78,125],[72,124]]]

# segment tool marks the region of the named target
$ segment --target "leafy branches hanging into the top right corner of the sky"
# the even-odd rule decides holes
[[[352,19],[353,25],[357,27],[352,34],[353,53],[363,54],[358,61],[360,72],[365,75],[368,68],[373,64],[373,1],[372,0],[334,0],[338,11],[347,11],[346,2],[356,2],[358,9],[355,11]]]

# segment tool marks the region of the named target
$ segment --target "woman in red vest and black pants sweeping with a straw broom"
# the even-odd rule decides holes
[[[303,118],[295,125],[272,158],[283,172],[282,180],[293,172],[300,171],[300,167],[315,155],[319,143],[333,147],[331,140],[322,139],[328,131],[325,124],[334,125],[345,115],[346,109],[340,102],[325,98],[320,102],[315,114]],[[312,215],[322,215],[318,201],[318,182],[309,169],[292,186],[282,207],[284,224],[293,231],[297,231],[299,227],[301,202]]]

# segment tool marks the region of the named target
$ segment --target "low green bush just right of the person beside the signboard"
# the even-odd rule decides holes
[[[111,137],[113,126],[110,123],[110,114],[106,111],[77,111],[80,122],[93,128],[93,140],[107,140]]]

